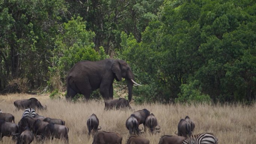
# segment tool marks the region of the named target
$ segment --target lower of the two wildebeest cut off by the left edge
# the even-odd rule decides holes
[[[12,133],[18,132],[18,125],[12,122],[5,122],[5,120],[0,120],[0,141],[3,141],[3,137],[10,137]]]

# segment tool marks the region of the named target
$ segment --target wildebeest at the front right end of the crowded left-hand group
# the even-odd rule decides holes
[[[45,138],[58,138],[64,140],[68,144],[68,128],[64,125],[58,125],[54,123],[49,123],[45,126],[44,137]]]

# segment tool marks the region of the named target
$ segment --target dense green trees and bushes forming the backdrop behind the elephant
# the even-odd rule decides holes
[[[80,60],[127,61],[143,101],[256,98],[254,0],[0,1],[0,91],[65,89]]]

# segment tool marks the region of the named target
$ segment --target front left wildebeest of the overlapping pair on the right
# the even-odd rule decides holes
[[[190,137],[191,135],[191,125],[185,119],[181,119],[178,124],[178,136],[183,136],[187,138]]]

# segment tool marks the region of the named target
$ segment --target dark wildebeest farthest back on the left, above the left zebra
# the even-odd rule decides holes
[[[47,110],[47,107],[43,107],[43,105],[38,101],[36,98],[30,98],[30,99],[21,99],[21,100],[16,100],[13,102],[17,110],[20,109],[25,109],[25,108],[38,108],[40,110]]]

